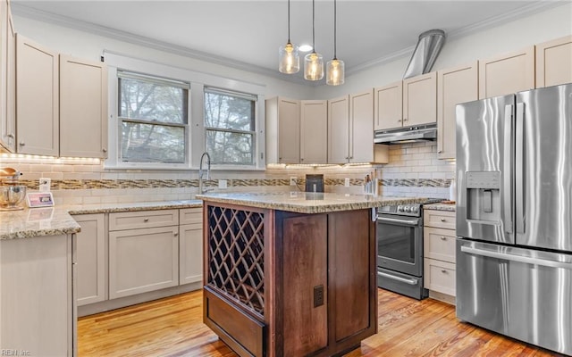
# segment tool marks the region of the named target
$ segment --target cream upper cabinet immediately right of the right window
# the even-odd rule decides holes
[[[300,101],[283,97],[266,99],[266,162],[299,163]]]

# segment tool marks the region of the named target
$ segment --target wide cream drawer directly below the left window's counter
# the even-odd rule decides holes
[[[109,230],[177,226],[179,210],[121,212],[109,214]]]

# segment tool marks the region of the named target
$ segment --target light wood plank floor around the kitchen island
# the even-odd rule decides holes
[[[460,322],[447,303],[382,289],[378,298],[379,333],[346,357],[559,355]],[[202,312],[202,292],[195,291],[80,318],[79,355],[236,356],[202,323]]]

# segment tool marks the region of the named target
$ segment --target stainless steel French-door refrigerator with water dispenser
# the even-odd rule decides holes
[[[572,84],[457,106],[457,316],[572,354]]]

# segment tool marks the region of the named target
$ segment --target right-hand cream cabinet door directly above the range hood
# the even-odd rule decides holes
[[[437,121],[437,73],[403,79],[403,126]]]

